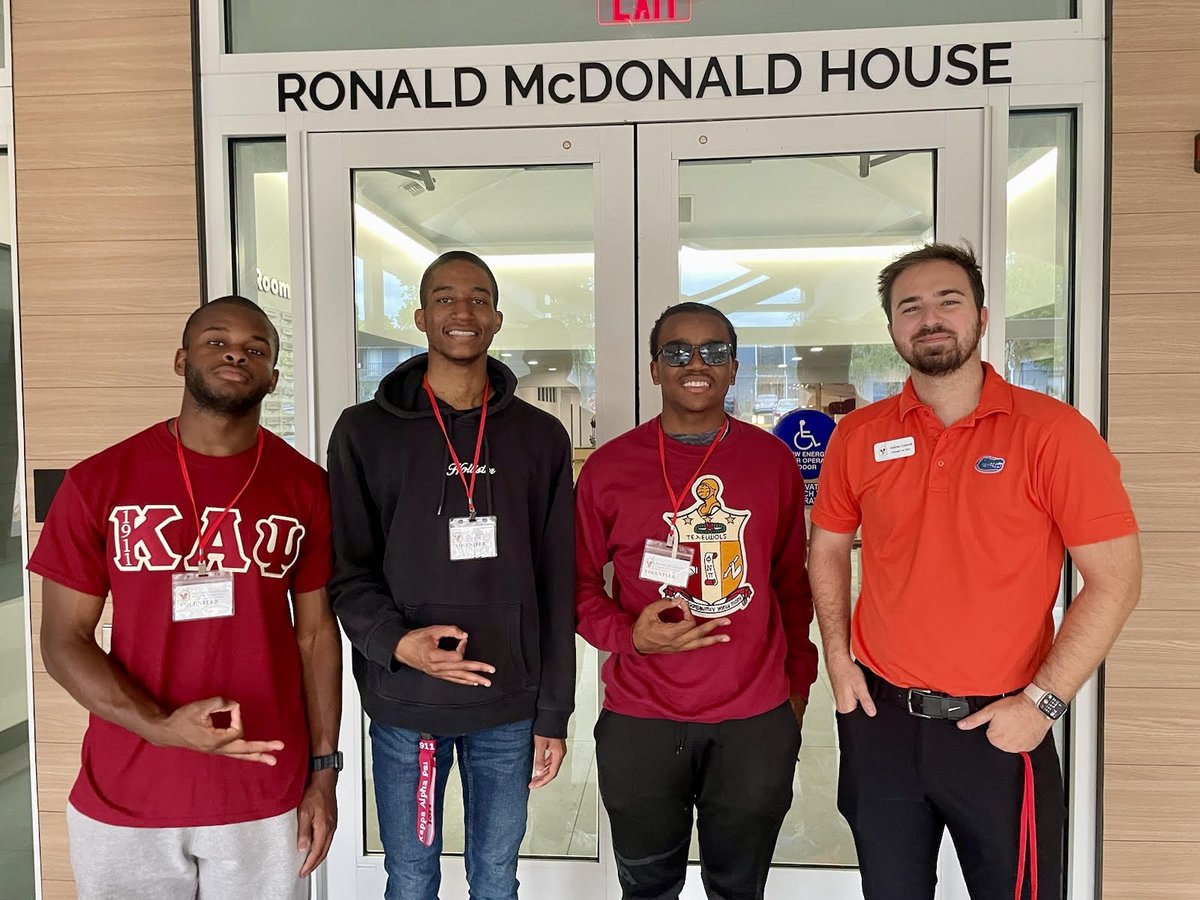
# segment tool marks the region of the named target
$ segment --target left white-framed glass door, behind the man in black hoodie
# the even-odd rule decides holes
[[[317,445],[344,407],[424,352],[413,323],[421,272],[455,248],[496,272],[504,329],[492,354],[517,376],[518,396],[562,420],[576,466],[631,427],[632,157],[631,127],[311,136]],[[582,640],[577,683],[566,761],[530,798],[518,872],[529,896],[599,900],[613,868],[592,744],[599,660]],[[328,895],[380,896],[370,738],[348,671],[343,722]],[[443,842],[443,896],[466,896],[454,773]]]

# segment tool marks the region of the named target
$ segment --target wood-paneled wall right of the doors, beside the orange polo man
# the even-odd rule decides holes
[[[1104,900],[1200,896],[1200,2],[1112,2],[1109,439],[1142,527],[1106,670]]]

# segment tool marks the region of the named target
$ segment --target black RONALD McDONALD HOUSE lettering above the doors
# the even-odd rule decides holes
[[[449,109],[1012,84],[1008,41],[625,62],[281,72],[278,110]]]

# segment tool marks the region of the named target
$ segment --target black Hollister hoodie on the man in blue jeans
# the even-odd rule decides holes
[[[497,517],[498,556],[451,562],[449,521],[467,515],[467,494],[422,388],[427,365],[422,354],[388,374],[374,400],[342,413],[329,442],[330,594],[362,706],[374,721],[433,734],[533,718],[535,734],[565,738],[575,708],[570,438],[514,395],[506,366],[487,360],[475,509]],[[469,481],[480,409],[439,408]],[[400,664],[397,642],[425,625],[466,631],[467,658],[496,667],[492,685]]]

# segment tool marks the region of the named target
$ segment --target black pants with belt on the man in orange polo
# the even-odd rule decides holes
[[[875,701],[838,714],[838,809],[858,848],[865,900],[931,900],[948,828],[972,900],[1013,900],[1025,761],[988,742],[986,726],[919,719]],[[1062,898],[1066,808],[1054,737],[1030,752],[1038,830],[1037,900]],[[1028,862],[1021,896],[1030,900]]]

